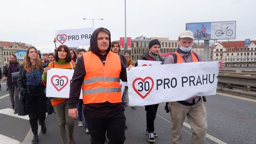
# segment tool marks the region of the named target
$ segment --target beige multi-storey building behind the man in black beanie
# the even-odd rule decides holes
[[[149,50],[149,42],[152,39],[158,39],[161,43],[160,54],[167,52],[176,52],[178,48],[177,40],[169,40],[169,38],[165,37],[150,37],[146,38],[146,36],[136,37],[131,40],[131,59],[137,61],[140,57]],[[120,40],[116,40],[120,42]],[[120,50],[121,54],[124,54],[124,50]]]

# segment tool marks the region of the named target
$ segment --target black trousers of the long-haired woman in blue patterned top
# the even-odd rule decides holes
[[[44,125],[47,112],[44,87],[29,87],[25,92],[26,111],[29,114],[29,123],[34,135],[38,135],[38,120]]]

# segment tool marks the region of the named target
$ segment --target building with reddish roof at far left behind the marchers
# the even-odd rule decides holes
[[[0,41],[0,68],[3,68],[3,63],[5,61],[9,62],[11,54],[16,54],[18,50],[27,50],[29,46],[27,43],[21,42],[3,42]],[[22,62],[23,60],[18,60]]]

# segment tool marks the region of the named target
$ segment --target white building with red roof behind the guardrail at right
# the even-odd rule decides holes
[[[256,40],[245,46],[244,41],[221,42],[213,48],[213,59],[222,59],[224,62],[255,61]]]

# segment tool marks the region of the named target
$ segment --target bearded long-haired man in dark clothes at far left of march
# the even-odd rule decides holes
[[[10,56],[9,64],[5,65],[5,71],[3,71],[3,73],[2,73],[2,77],[4,80],[7,77],[6,84],[7,84],[7,87],[9,88],[12,109],[15,110],[14,114],[18,114],[19,91],[18,91],[18,87],[17,87],[17,81],[12,81],[12,73],[18,72],[18,71],[20,71],[20,64],[17,61],[16,55],[12,54]]]

